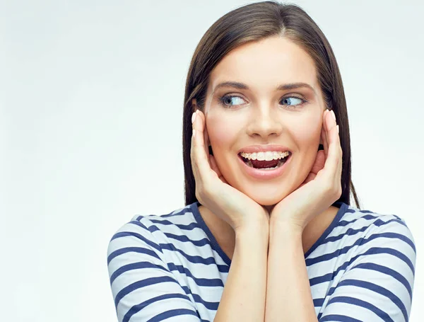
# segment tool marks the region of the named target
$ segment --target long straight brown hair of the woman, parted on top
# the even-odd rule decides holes
[[[278,1],[247,4],[226,13],[211,25],[194,51],[187,75],[182,120],[185,205],[198,201],[190,158],[191,117],[194,113],[192,99],[196,98],[198,108],[203,111],[209,75],[225,54],[246,42],[271,36],[281,36],[295,42],[314,60],[317,80],[326,107],[334,110],[340,130],[343,150],[342,192],[336,202],[351,205],[352,193],[356,207],[359,208],[358,197],[351,180],[351,139],[346,98],[336,57],[322,30],[302,8],[295,4],[281,4]]]

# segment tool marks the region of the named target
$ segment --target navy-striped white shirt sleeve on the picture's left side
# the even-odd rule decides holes
[[[122,226],[109,242],[107,269],[118,321],[199,322],[196,307],[154,241],[137,220]]]

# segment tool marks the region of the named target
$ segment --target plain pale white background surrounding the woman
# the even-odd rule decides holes
[[[294,1],[338,59],[363,209],[406,220],[424,302],[423,1]],[[1,1],[2,321],[117,321],[107,244],[184,207],[182,105],[206,30],[248,1]]]

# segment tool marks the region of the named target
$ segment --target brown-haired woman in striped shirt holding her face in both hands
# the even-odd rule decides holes
[[[184,103],[186,206],[109,244],[119,321],[408,321],[413,236],[359,209],[341,76],[305,11],[216,21]]]

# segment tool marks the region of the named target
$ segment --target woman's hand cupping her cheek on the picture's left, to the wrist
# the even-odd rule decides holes
[[[247,225],[269,225],[269,213],[240,190],[227,183],[215,158],[208,151],[206,118],[201,110],[193,114],[191,159],[196,180],[196,198],[213,214],[228,222],[237,231]],[[193,120],[193,118],[192,118]]]

